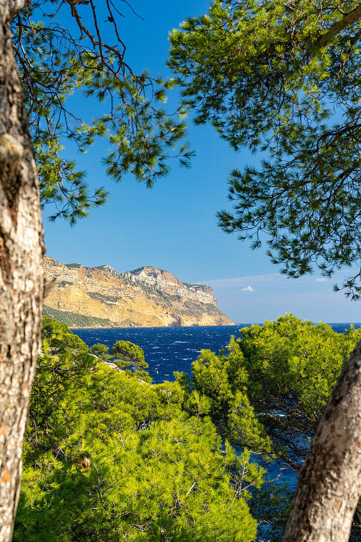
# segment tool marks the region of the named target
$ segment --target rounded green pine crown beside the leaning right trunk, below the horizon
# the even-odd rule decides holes
[[[361,330],[336,333],[286,314],[241,330],[228,358],[247,372],[247,394],[276,453],[300,468],[336,380]]]

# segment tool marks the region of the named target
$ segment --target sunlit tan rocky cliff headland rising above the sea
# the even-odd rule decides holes
[[[217,308],[209,286],[190,285],[156,267],[119,274],[110,266],[83,267],[44,257],[45,280],[59,286],[44,314],[71,327],[218,326],[233,322]]]

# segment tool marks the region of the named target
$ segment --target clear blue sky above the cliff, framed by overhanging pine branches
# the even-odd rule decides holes
[[[126,61],[139,72],[147,69],[153,75],[169,75],[164,67],[169,31],[186,16],[205,12],[208,2],[133,0],[132,6],[144,20],[121,4],[125,17],[119,30],[127,46]],[[170,104],[176,102],[175,91]],[[81,96],[73,99],[73,105],[84,115],[93,113],[94,105]],[[269,262],[265,249],[252,251],[235,235],[223,233],[215,214],[229,207],[228,173],[257,159],[245,150],[231,151],[208,126],[190,124],[188,139],[197,153],[191,169],[180,169],[174,162],[170,175],[152,190],[131,176],[119,184],[107,178],[101,165],[105,143],[95,145],[85,156],[77,154],[79,166],[88,172],[89,185],[105,185],[111,198],[74,228],[62,220],[49,223],[46,208],[48,255],[63,263],[108,263],[120,273],[153,265],[182,281],[208,283],[218,306],[235,322],[261,322],[285,312],[314,321],[360,321],[361,305],[333,293],[334,280],[321,281],[317,274],[286,279]],[[66,151],[74,152],[70,147]]]

